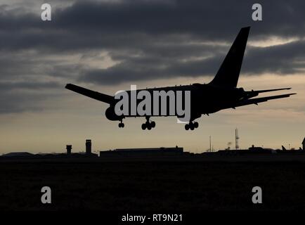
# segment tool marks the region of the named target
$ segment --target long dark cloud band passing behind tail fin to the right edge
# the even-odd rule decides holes
[[[223,49],[227,49],[223,48]],[[249,47],[244,63],[242,75],[261,75],[271,72],[278,75],[287,75],[301,72],[305,69],[305,41],[293,41],[270,47]],[[148,52],[140,56],[120,56],[125,58],[122,63],[104,70],[89,70],[79,77],[82,82],[96,82],[98,84],[117,84],[119,82],[135,82],[137,80],[151,80],[169,77],[199,77],[216,74],[223,60],[222,51],[203,53],[202,56],[211,56],[198,59],[200,48],[193,50],[195,56],[183,61],[185,54],[173,58],[165,56],[155,57]],[[187,58],[187,57],[186,57]]]

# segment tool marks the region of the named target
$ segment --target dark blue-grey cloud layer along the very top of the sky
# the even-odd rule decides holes
[[[0,47],[108,49],[135,46],[168,34],[228,41],[247,25],[254,25],[254,37],[304,36],[300,29],[304,27],[304,1],[261,1],[264,20],[259,23],[252,21],[252,4],[238,0],[77,1],[54,11],[51,23],[42,22],[39,14],[4,10],[0,13],[4,40]]]

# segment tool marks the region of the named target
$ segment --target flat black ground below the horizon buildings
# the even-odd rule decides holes
[[[299,155],[0,160],[0,210],[304,210]],[[50,186],[52,204],[41,204]],[[252,204],[261,186],[263,204]]]

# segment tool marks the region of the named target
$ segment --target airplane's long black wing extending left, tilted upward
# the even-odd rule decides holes
[[[82,86],[77,86],[74,84],[67,84],[65,86],[66,89],[69,89],[70,91],[77,92],[78,94],[82,94],[84,96],[87,96],[89,98],[96,99],[98,101],[103,101],[104,103],[111,104],[113,101],[115,101],[115,98],[113,96],[108,96],[108,94],[102,94],[98,91],[91,91],[89,89],[85,89]]]

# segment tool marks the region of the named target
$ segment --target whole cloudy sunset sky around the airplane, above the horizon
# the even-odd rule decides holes
[[[41,5],[52,20],[41,20]],[[299,148],[305,136],[305,2],[259,1],[0,1],[0,154],[183,146]],[[105,103],[75,94],[65,84],[105,94],[118,90],[207,83],[241,27],[251,26],[238,86],[292,87],[290,98],[202,115],[186,131],[174,117],[105,118]],[[284,91],[285,92],[285,91]],[[289,92],[289,91],[288,91]],[[209,98],[209,96],[206,96]]]

